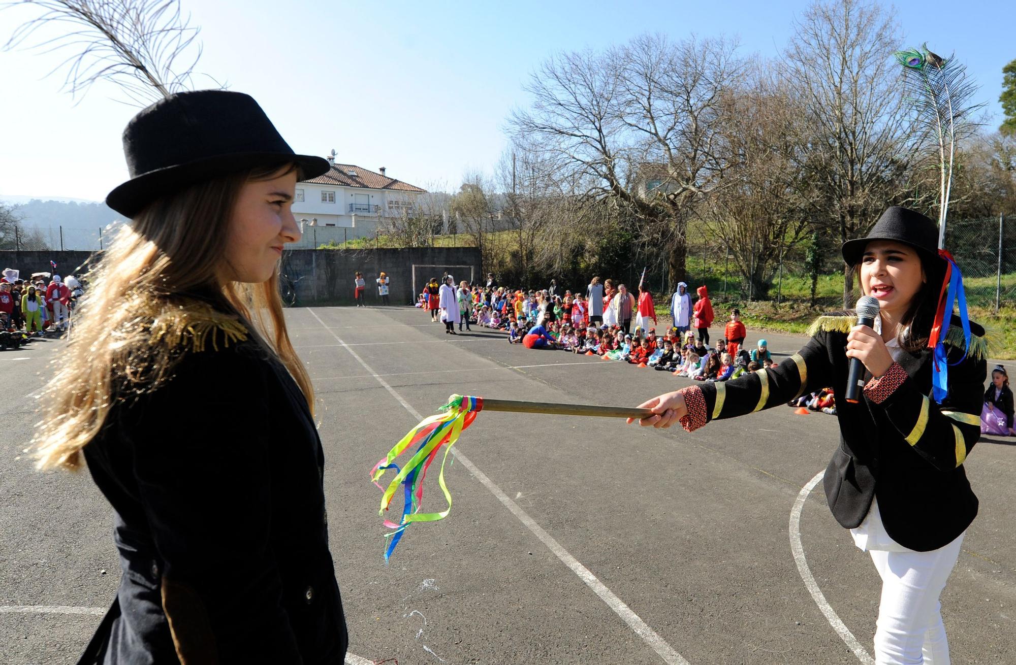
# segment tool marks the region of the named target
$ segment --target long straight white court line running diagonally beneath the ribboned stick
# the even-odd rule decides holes
[[[321,318],[317,315],[316,312],[314,312],[314,310],[308,309],[307,311],[310,312],[315,319],[320,321],[322,326],[324,326],[324,321],[321,321]],[[406,402],[402,398],[402,396],[395,391],[394,388],[389,386],[388,382],[382,379],[380,375],[378,375],[376,372],[374,372],[374,370],[371,369],[371,365],[367,364],[367,362],[365,362],[364,359],[360,357],[360,355],[356,351],[350,348],[351,344],[346,344],[345,342],[343,342],[342,339],[334,332],[330,330],[328,332],[331,333],[331,335],[338,341],[340,346],[345,347],[345,350],[347,350],[353,355],[353,357],[355,357],[357,361],[359,361],[360,364],[364,367],[365,370],[371,373],[371,376],[374,377],[374,379],[378,383],[380,383],[385,388],[385,390],[387,390],[391,394],[392,397],[398,400],[398,402],[405,408],[406,411],[408,411],[415,418],[417,418],[417,420],[424,419],[424,416],[419,411],[417,411],[417,409],[412,408],[412,406],[408,402]],[[635,631],[635,635],[642,638],[642,640],[644,640],[646,644],[648,644],[652,648],[652,650],[655,651],[659,655],[659,657],[663,659],[664,663],[668,663],[668,665],[689,665],[688,661],[685,660],[681,656],[681,654],[675,651],[674,648],[671,647],[671,645],[669,645],[662,638],[660,638],[655,630],[649,627],[649,625],[645,621],[643,621],[638,614],[633,612],[631,608],[628,607],[628,605],[626,605],[623,600],[618,598],[618,596],[613,591],[611,591],[607,587],[607,585],[600,582],[596,578],[596,576],[589,571],[589,569],[582,566],[578,561],[578,559],[576,559],[574,556],[568,553],[568,550],[565,549],[561,545],[561,543],[555,540],[554,537],[551,536],[551,534],[547,533],[547,531],[545,531],[543,527],[536,524],[533,521],[533,519],[529,517],[528,514],[526,514],[525,511],[519,508],[518,504],[510,500],[508,495],[504,493],[504,491],[502,491],[501,487],[498,487],[494,483],[494,481],[488,478],[483,471],[477,468],[477,466],[472,462],[470,462],[465,455],[459,452],[455,455],[455,459],[462,462],[462,465],[466,469],[468,469],[469,473],[475,476],[480,480],[480,482],[482,482],[484,486],[491,491],[491,493],[497,496],[498,501],[501,502],[505,506],[505,508],[511,511],[512,514],[515,517],[517,517],[519,521],[522,522],[522,524],[524,524],[525,527],[529,529],[529,531],[531,531],[534,536],[539,538],[541,542],[547,545],[548,549],[554,552],[554,555],[557,556],[559,559],[561,559],[561,562],[563,562],[565,566],[571,569],[572,573],[577,575],[578,578],[582,580],[582,582],[584,582],[585,585],[589,587],[593,593],[599,596],[599,599],[602,600],[608,607],[614,610],[614,613],[620,616],[625,621],[625,623],[627,623],[628,626]]]

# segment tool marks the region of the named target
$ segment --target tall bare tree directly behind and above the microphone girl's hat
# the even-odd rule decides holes
[[[801,92],[815,148],[797,165],[820,189],[816,212],[840,242],[907,197],[913,124],[892,57],[900,39],[893,10],[829,0],[805,10],[783,54],[781,73]],[[844,266],[844,307],[852,305],[847,274]]]

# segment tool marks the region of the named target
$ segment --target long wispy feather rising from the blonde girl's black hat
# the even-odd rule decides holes
[[[73,26],[35,48],[70,52],[53,71],[66,67],[64,88],[74,96],[104,78],[139,106],[191,88],[201,57],[200,45],[193,44],[199,28],[181,16],[179,0],[21,0],[0,9],[15,6],[43,13],[15,28],[5,50],[24,45],[44,26]],[[190,64],[178,66],[177,60],[189,54]]]

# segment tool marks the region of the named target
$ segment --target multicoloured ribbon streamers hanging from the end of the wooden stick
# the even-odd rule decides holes
[[[448,491],[448,486],[445,484],[444,465],[448,460],[448,452],[455,445],[455,442],[458,441],[459,435],[472,423],[472,420],[477,417],[477,413],[483,410],[484,400],[482,397],[452,395],[448,403],[441,408],[444,413],[425,418],[420,424],[402,437],[401,441],[388,451],[388,455],[371,469],[371,481],[379,489],[384,490],[384,494],[381,496],[381,510],[378,512],[380,516],[384,517],[384,513],[388,510],[399,484],[402,485],[404,494],[400,521],[397,524],[391,520],[384,521],[386,527],[394,529],[385,534],[385,538],[388,540],[388,547],[384,553],[386,562],[391,557],[391,553],[395,551],[395,545],[402,538],[406,527],[414,522],[436,522],[443,520],[451,512],[451,492]],[[395,458],[401,455],[406,448],[417,444],[419,444],[417,452],[402,468],[399,468],[394,463]],[[424,498],[424,477],[427,475],[427,468],[445,444],[448,447],[445,448],[444,458],[441,460],[441,473],[438,475],[438,484],[441,486],[445,500],[448,502],[448,508],[439,513],[421,513],[420,508]],[[381,479],[381,476],[388,469],[395,470],[395,477],[388,483],[388,487],[384,488],[381,487],[378,480]]]

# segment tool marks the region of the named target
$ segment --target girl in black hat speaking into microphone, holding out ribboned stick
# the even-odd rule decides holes
[[[641,424],[692,431],[827,386],[843,395],[850,358],[864,363],[864,396],[837,404],[840,445],[824,484],[833,516],[883,581],[879,665],[949,662],[939,596],[977,513],[963,461],[980,436],[983,330],[965,311],[944,316],[958,269],[937,236],[928,217],[893,207],[843,245],[861,290],[879,302],[874,329],[854,325],[853,312],[827,315],[790,361],[641,405],[655,413]]]

